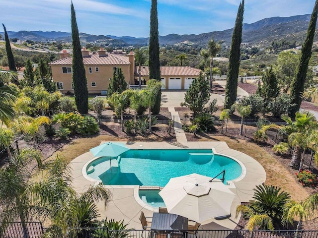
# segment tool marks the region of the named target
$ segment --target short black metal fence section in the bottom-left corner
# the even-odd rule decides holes
[[[0,231],[0,238],[41,238],[43,233],[41,222],[27,222],[24,229],[21,222],[10,222]]]

